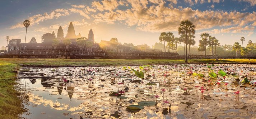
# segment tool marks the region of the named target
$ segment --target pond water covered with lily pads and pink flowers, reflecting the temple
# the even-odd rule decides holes
[[[256,66],[253,64],[154,65],[132,68],[143,71],[145,78],[138,78],[132,70],[122,66],[21,68],[18,73],[19,90],[25,90],[28,95],[28,100],[24,102],[28,112],[22,117],[256,118],[254,85],[241,84],[245,76],[254,84]],[[218,78],[210,78],[209,72],[218,74],[220,69],[227,73],[225,79],[220,75]],[[118,85],[121,82],[124,84]],[[152,85],[151,88],[148,83]],[[204,86],[202,93],[201,86]],[[114,95],[113,92],[120,90],[125,92],[118,94],[118,97]],[[234,93],[237,90],[239,94]],[[159,97],[155,98],[155,95]],[[144,101],[142,108],[138,106],[141,101]],[[137,108],[130,105],[137,105]]]

